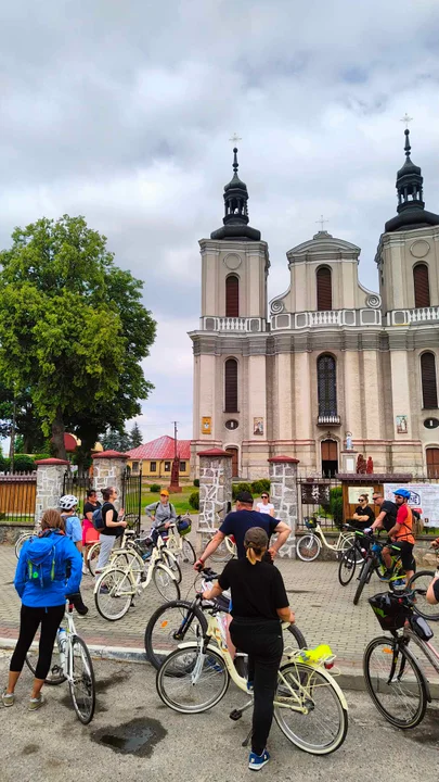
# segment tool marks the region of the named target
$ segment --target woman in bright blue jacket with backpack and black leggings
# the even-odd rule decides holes
[[[40,534],[24,544],[16,566],[14,586],[22,598],[20,635],[9,667],[8,686],[2,694],[3,706],[13,706],[15,702],[15,685],[40,625],[39,656],[29,709],[38,709],[44,703],[41,688],[49,673],[66,595],[79,591],[81,568],[82,557],[65,535],[61,514],[47,510],[41,519]]]

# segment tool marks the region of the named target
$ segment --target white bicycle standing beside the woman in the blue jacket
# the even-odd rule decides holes
[[[66,628],[59,628],[56,634],[57,661],[52,663],[46,678],[46,684],[63,684],[68,682],[72,703],[82,724],[93,719],[96,704],[93,664],[86,642],[76,633],[73,605],[66,601]],[[29,649],[26,663],[31,672],[36,673],[38,651]]]

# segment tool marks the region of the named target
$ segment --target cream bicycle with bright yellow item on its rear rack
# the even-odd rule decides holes
[[[197,603],[202,595],[196,596]],[[247,680],[241,677],[228,652],[219,609],[208,609],[206,632],[195,643],[183,643],[160,666],[157,693],[166,706],[181,714],[201,714],[216,706],[225,695],[230,680],[248,694]],[[217,646],[210,641],[215,639]],[[295,649],[279,670],[274,696],[274,719],[284,735],[311,755],[328,755],[345,741],[348,730],[346,698],[327,672],[334,666],[331,648]],[[241,719],[251,699],[233,709],[230,718]],[[250,739],[247,736],[243,745]]]

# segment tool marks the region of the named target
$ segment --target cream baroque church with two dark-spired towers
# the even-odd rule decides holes
[[[220,447],[244,480],[267,476],[276,454],[309,476],[345,471],[352,453],[374,472],[439,477],[439,215],[425,209],[408,129],[404,150],[379,293],[359,280],[360,248],[320,230],[288,250],[288,290],[270,303],[269,249],[233,150],[223,225],[199,241],[193,474],[199,451]]]

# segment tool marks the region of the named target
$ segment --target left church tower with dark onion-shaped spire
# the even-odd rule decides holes
[[[194,431],[196,454],[230,450],[234,476],[267,471],[267,276],[268,245],[248,218],[248,190],[238,176],[224,187],[223,225],[199,241],[202,317],[191,332],[194,351]],[[262,472],[260,471],[262,469]]]

